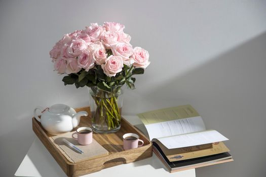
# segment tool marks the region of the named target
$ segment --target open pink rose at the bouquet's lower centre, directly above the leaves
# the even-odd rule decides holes
[[[123,59],[122,57],[110,55],[106,59],[106,63],[101,65],[103,72],[111,77],[122,71]]]

